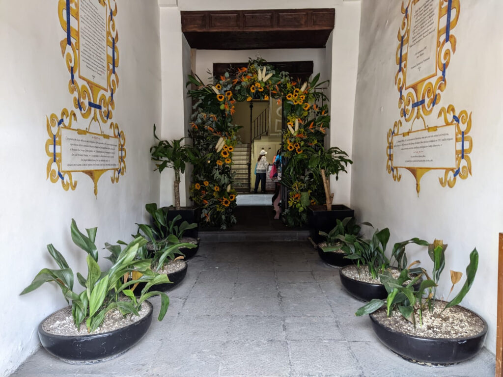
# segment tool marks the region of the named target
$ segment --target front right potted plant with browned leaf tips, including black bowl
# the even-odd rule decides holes
[[[478,266],[478,252],[473,249],[466,267],[466,280],[450,301],[454,286],[462,273],[451,270],[452,287],[446,301],[438,300],[436,288],[445,266],[442,241],[430,246],[434,267],[432,277],[423,270],[421,285],[413,285],[416,276],[406,284],[408,271],[398,278],[381,274],[388,292],[382,300],[372,300],[358,309],[357,316],[370,314],[377,337],[392,351],[411,361],[429,364],[458,363],[473,357],[484,345],[487,323],[459,304],[470,290]]]

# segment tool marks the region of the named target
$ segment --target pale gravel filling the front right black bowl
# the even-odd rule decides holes
[[[466,338],[478,335],[484,329],[484,322],[480,317],[461,306],[448,308],[439,317],[445,305],[444,301],[436,301],[433,314],[428,309],[424,310],[423,326],[416,316],[415,329],[412,322],[403,318],[398,311],[393,311],[390,317],[386,317],[386,308],[381,308],[372,316],[393,331],[427,338]]]

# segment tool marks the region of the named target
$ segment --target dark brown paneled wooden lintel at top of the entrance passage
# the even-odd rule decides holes
[[[192,48],[244,50],[320,48],[333,29],[334,9],[182,12]]]

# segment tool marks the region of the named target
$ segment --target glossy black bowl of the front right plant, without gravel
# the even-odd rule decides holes
[[[482,317],[478,317],[484,322],[484,329],[480,334],[466,338],[439,339],[396,332],[379,323],[370,314],[372,327],[386,347],[409,361],[431,364],[455,364],[475,356],[482,349],[487,335],[487,323]]]

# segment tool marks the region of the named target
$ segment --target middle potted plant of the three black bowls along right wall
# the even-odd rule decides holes
[[[354,264],[341,268],[339,275],[344,288],[354,297],[362,301],[372,299],[383,299],[387,296],[386,289],[379,279],[379,273],[386,270],[395,275],[407,266],[407,256],[405,246],[414,243],[416,245],[428,245],[428,242],[419,238],[411,238],[406,241],[397,242],[393,245],[391,259],[385,255],[386,246],[389,241],[389,229],[375,230],[370,239],[364,239],[347,234],[344,237],[338,236],[344,241],[343,250],[348,254],[345,258],[353,261]],[[393,265],[394,264],[394,265]],[[418,264],[412,262],[409,267]],[[415,273],[421,273],[420,267],[410,268],[409,279]]]

